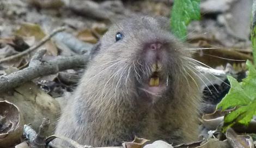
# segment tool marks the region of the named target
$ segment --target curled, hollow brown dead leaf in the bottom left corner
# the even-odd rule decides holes
[[[23,133],[23,116],[15,104],[0,101],[0,145],[14,145]]]

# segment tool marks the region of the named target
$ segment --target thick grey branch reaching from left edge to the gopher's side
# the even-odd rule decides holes
[[[23,70],[0,77],[0,92],[18,87],[34,78],[52,75],[63,70],[81,68],[86,65],[88,59],[89,55],[75,55],[29,65]]]

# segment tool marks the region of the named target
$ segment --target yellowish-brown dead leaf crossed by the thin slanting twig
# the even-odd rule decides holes
[[[34,36],[36,42],[40,41],[46,35],[38,24],[33,23],[23,23],[21,27],[16,30],[15,34],[22,37]],[[47,41],[44,44],[44,47],[46,48],[48,54],[54,56],[58,54],[57,47],[53,44],[51,40]]]

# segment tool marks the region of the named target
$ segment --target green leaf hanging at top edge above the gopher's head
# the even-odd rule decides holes
[[[191,20],[200,19],[200,0],[175,0],[170,26],[175,36],[186,39],[187,25]]]

